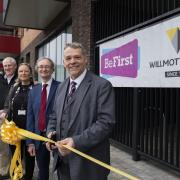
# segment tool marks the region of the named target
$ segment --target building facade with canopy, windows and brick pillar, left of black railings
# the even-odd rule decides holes
[[[39,6],[41,3],[44,4],[43,7]],[[19,9],[18,13],[17,9]],[[14,15],[12,11],[16,11],[15,20],[12,18]],[[24,13],[29,14],[28,17],[24,16]],[[39,19],[34,17],[34,14]],[[38,57],[48,56],[57,65],[54,77],[62,81],[67,76],[62,62],[62,52],[66,42],[79,41],[84,44],[88,57],[91,59],[90,68],[93,69],[95,66],[93,63],[92,15],[92,2],[89,0],[39,0],[38,3],[28,1],[26,4],[24,1],[9,1],[4,23],[22,27],[19,61],[26,61],[34,66]]]

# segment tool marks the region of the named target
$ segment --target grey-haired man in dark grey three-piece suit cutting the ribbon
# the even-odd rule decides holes
[[[48,137],[56,132],[59,152],[54,168],[60,180],[107,180],[109,170],[96,165],[63,145],[74,147],[105,163],[110,163],[109,134],[115,123],[114,92],[109,81],[87,70],[88,60],[79,43],[64,49],[64,66],[69,72],[57,89]],[[46,143],[48,149],[55,146]]]

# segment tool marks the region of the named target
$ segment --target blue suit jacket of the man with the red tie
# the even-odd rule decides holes
[[[47,99],[47,105],[46,105],[46,127],[49,121],[49,114],[52,113],[54,97],[58,85],[59,85],[58,81],[55,80],[52,81],[51,88],[49,91],[49,96]],[[28,97],[26,129],[36,134],[40,134],[38,128],[38,120],[39,120],[39,109],[41,103],[41,91],[42,91],[42,84],[38,84],[30,90]],[[35,144],[36,148],[38,148],[39,146],[39,141],[28,139],[26,142],[27,144]]]

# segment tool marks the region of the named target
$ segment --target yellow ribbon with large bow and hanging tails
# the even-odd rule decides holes
[[[14,156],[11,160],[11,166],[10,166],[10,176],[11,176],[12,180],[19,180],[23,175],[22,163],[21,163],[21,148],[20,148],[21,143],[20,142],[21,142],[21,139],[25,139],[25,138],[31,138],[34,140],[55,143],[55,141],[53,141],[51,139],[42,137],[40,135],[34,134],[34,133],[29,132],[24,129],[20,129],[15,125],[15,123],[13,121],[9,122],[8,120],[5,119],[1,126],[1,139],[5,143],[16,146],[16,150],[15,150]],[[64,147],[66,147],[70,151],[72,151],[72,152],[74,152],[96,164],[99,164],[100,166],[107,168],[121,176],[124,176],[130,180],[138,180],[138,178],[136,178],[132,175],[129,175],[129,174],[127,174],[115,167],[112,167],[104,162],[101,162],[85,153],[82,153],[81,151],[78,151],[75,148],[69,147],[67,145],[64,145]]]

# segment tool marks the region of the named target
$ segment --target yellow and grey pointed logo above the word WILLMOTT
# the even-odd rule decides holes
[[[171,41],[172,46],[178,53],[180,50],[180,27],[169,29],[166,31],[166,33]]]

